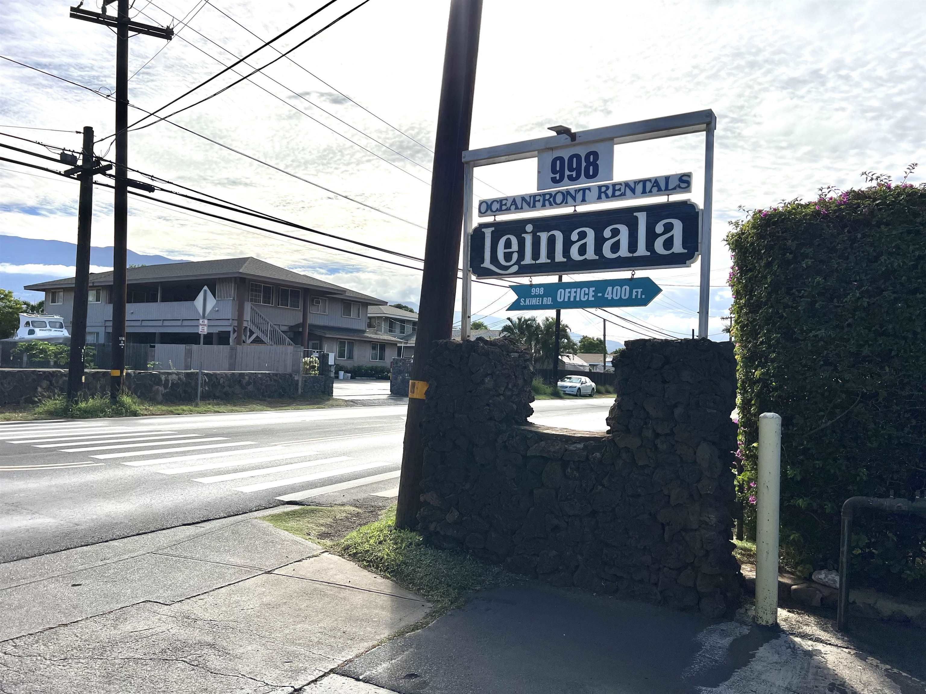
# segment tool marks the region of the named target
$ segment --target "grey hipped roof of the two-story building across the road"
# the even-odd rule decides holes
[[[285,267],[276,266],[253,257],[220,258],[219,260],[199,260],[189,263],[164,263],[141,267],[129,267],[126,270],[126,277],[129,282],[166,281],[170,279],[209,279],[220,277],[272,279],[281,284],[325,291],[327,293],[358,299],[368,302],[369,304],[386,304],[382,299],[377,299],[368,294],[348,290],[344,287],[332,284],[331,282],[326,282],[323,279],[303,275],[299,272],[294,272]],[[90,284],[94,287],[112,284],[112,281],[113,273],[111,270],[108,272],[94,272],[90,275]],[[23,289],[42,291],[45,289],[73,286],[74,278],[65,278],[30,284]]]

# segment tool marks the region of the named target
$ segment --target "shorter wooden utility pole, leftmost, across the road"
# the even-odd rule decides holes
[[[112,165],[94,161],[94,129],[83,129],[81,166],[69,168],[81,180],[77,207],[77,257],[74,271],[74,312],[70,320],[70,359],[68,364],[68,402],[75,402],[83,390],[83,348],[87,341],[87,298],[90,292],[90,227],[94,217],[94,175]]]

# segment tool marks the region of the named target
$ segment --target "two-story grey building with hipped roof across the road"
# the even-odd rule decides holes
[[[109,341],[112,281],[112,272],[90,276],[88,344]],[[216,305],[206,316],[206,344],[301,344],[334,353],[345,366],[388,366],[402,343],[388,329],[368,328],[370,309],[390,308],[382,299],[257,258],[130,267],[127,285],[129,342],[198,343],[194,299],[208,287]],[[44,291],[45,311],[62,316],[70,331],[74,278],[25,289]]]

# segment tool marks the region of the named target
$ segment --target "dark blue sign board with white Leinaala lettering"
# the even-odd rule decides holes
[[[484,222],[469,248],[479,278],[687,267],[701,250],[701,208],[683,200]]]

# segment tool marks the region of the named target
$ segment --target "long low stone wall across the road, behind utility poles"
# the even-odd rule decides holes
[[[196,400],[196,371],[128,371],[126,390],[152,403],[191,403]],[[68,371],[60,368],[0,369],[0,405],[38,403],[64,394]],[[203,400],[297,398],[299,377],[270,371],[204,371]],[[334,379],[304,376],[303,398],[331,397]],[[87,395],[109,392],[109,372],[88,369],[84,377]]]

